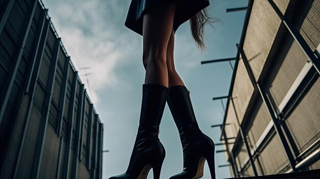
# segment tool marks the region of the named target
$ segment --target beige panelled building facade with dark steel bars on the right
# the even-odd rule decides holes
[[[320,1],[249,0],[221,141],[233,176],[320,168]]]

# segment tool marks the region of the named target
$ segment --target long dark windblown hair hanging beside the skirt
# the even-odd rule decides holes
[[[212,20],[210,20],[212,19]],[[190,18],[190,31],[193,39],[196,42],[196,46],[201,50],[201,53],[205,49],[205,45],[203,42],[203,27],[205,24],[210,24],[213,29],[213,22],[222,22],[220,19],[212,18],[208,16],[207,8],[202,9],[192,18]]]

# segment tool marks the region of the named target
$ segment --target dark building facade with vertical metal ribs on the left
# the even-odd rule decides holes
[[[0,0],[0,178],[101,178],[103,124],[38,0]]]

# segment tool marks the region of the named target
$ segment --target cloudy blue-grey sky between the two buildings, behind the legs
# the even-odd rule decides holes
[[[138,131],[142,85],[145,69],[142,63],[143,37],[124,26],[130,0],[42,0],[49,16],[79,71],[88,95],[104,124],[102,178],[126,171]],[[189,21],[175,34],[174,61],[177,72],[190,90],[196,119],[204,134],[220,143],[221,132],[212,128],[223,121],[220,101],[230,88],[230,63],[201,61],[236,57],[236,43],[242,33],[245,11],[226,13],[226,8],[247,6],[247,0],[210,0],[211,17],[223,23],[204,28],[207,49],[202,54],[190,33]],[[231,63],[234,65],[234,62]],[[84,67],[89,67],[84,70]],[[85,74],[88,75],[85,75]],[[88,82],[88,83],[87,83]],[[223,101],[224,105],[226,101]],[[160,125],[159,139],[166,149],[161,178],[182,171],[182,147],[168,105]],[[216,146],[221,150],[222,146]],[[206,162],[207,163],[207,162]],[[222,153],[215,154],[216,177],[231,177]],[[148,178],[153,178],[150,171]],[[210,178],[204,165],[204,179]]]

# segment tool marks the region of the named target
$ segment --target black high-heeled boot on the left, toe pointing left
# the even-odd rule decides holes
[[[136,135],[128,169],[125,173],[110,177],[147,178],[153,168],[153,178],[159,179],[166,152],[159,141],[159,125],[166,105],[168,88],[156,84],[144,84],[138,134]]]

